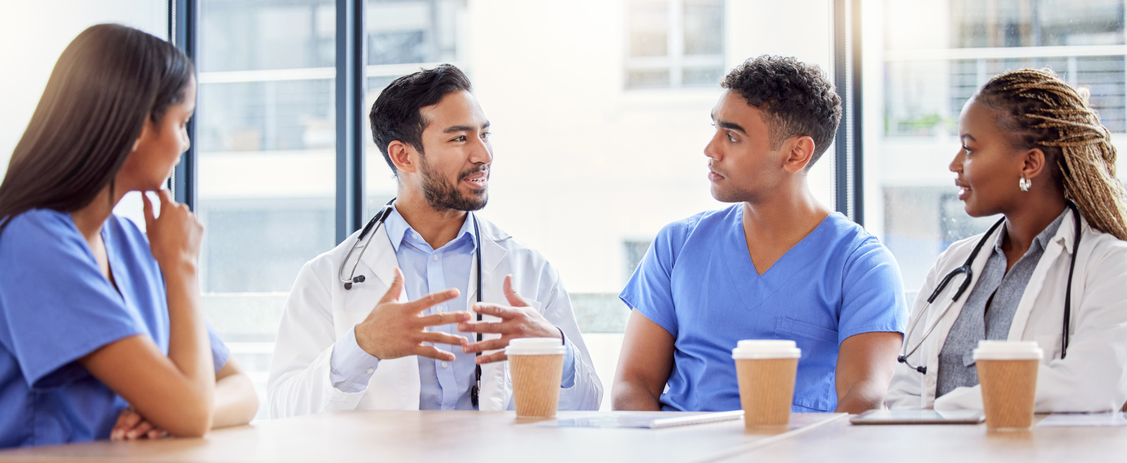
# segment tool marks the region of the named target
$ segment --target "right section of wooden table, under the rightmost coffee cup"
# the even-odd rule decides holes
[[[986,425],[853,426],[837,420],[720,461],[1125,462],[1127,427],[1035,426],[1026,431],[990,431]]]

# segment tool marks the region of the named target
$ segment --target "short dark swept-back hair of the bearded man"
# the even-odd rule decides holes
[[[423,131],[431,122],[423,118],[419,108],[437,105],[442,97],[458,91],[473,91],[470,79],[453,64],[440,64],[396,79],[380,92],[367,117],[372,141],[392,172],[399,175],[388,145],[398,140],[423,153]]]

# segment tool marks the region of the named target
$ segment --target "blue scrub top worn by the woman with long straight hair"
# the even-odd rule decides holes
[[[165,279],[148,238],[116,215],[101,238],[116,290],[69,213],[29,211],[0,234],[0,447],[108,438],[127,403],[78,358],[134,335],[168,354]],[[229,350],[208,335],[218,372]]]

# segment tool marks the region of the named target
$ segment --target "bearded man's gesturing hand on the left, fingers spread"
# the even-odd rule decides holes
[[[426,327],[458,323],[470,319],[470,312],[445,312],[421,315],[434,304],[458,297],[458,290],[445,290],[427,294],[417,301],[399,303],[403,291],[403,273],[396,268],[396,278],[383,299],[375,304],[372,313],[356,326],[356,344],[361,349],[381,360],[421,355],[440,360],[454,362],[454,354],[424,346],[423,342],[452,344],[464,346],[464,337],[445,332],[427,331]]]

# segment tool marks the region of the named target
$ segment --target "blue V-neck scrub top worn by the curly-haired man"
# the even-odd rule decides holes
[[[792,411],[833,411],[838,346],[904,332],[907,309],[891,252],[834,213],[763,275],[747,251],[743,204],[666,225],[620,297],[674,338],[663,410],[739,410],[731,349],[792,339],[802,350]]]

